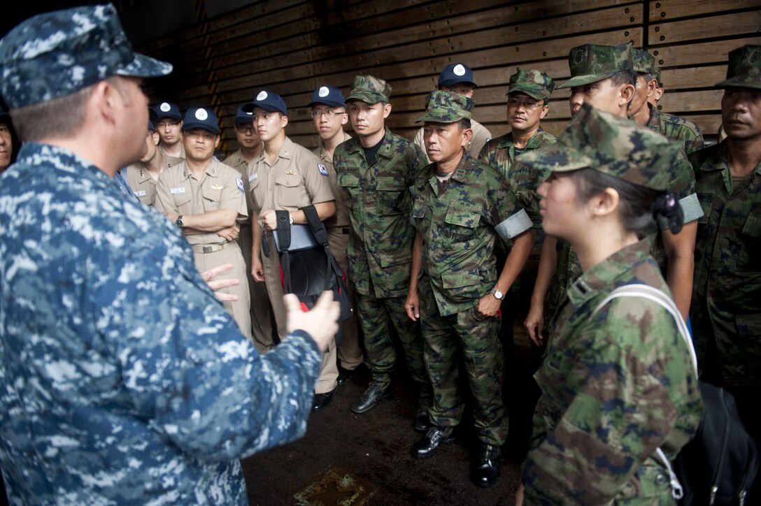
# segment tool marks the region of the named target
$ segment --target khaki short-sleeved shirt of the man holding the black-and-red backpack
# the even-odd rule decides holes
[[[269,164],[264,151],[256,158],[248,171],[248,185],[253,212],[298,211],[336,198],[330,189],[327,167],[311,151],[288,137],[274,164]]]

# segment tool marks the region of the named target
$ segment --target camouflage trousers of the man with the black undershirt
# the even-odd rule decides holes
[[[409,320],[404,309],[405,297],[377,298],[370,294],[358,294],[357,315],[365,344],[365,364],[373,374],[387,376],[396,364],[396,345],[390,334],[393,323],[399,334],[407,359],[407,369],[413,380],[428,384],[428,373],[423,364],[423,345],[420,326]]]

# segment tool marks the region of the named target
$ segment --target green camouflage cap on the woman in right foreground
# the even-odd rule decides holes
[[[658,132],[584,103],[556,144],[526,151],[518,160],[554,172],[589,167],[645,188],[665,190],[681,150],[677,142]]]

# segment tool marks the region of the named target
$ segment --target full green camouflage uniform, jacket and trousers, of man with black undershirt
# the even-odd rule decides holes
[[[388,329],[391,322],[403,342],[411,376],[428,383],[420,329],[404,309],[415,234],[409,222],[409,188],[425,167],[422,153],[386,129],[374,164],[368,165],[356,137],[336,148],[333,164],[338,186],[347,195],[351,226],[346,263],[357,300],[365,364],[375,374],[393,369],[396,351]]]

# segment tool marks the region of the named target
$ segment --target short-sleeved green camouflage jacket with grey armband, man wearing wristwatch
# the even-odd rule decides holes
[[[516,237],[531,220],[505,178],[467,152],[441,195],[437,183],[431,164],[415,185],[412,216],[422,239],[422,273],[447,316],[470,309],[494,288],[497,237]]]

